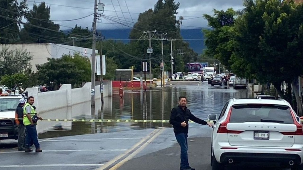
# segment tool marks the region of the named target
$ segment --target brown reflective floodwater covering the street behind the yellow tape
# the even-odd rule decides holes
[[[153,90],[125,90],[123,98],[118,90],[112,97],[104,98],[104,106],[96,100],[95,115],[91,115],[90,102],[72,108],[43,113],[44,119],[145,119],[168,120],[171,109],[177,106],[179,96],[186,96],[188,108],[195,116],[206,120],[211,113],[220,114],[230,98],[247,98],[247,90],[234,90],[211,87],[206,82],[187,86],[154,88]],[[71,112],[72,116],[67,112]],[[200,126],[196,123],[190,125]],[[38,124],[39,138],[82,135],[90,133],[107,133],[133,129],[171,127],[169,123],[112,123],[112,122],[47,122]]]

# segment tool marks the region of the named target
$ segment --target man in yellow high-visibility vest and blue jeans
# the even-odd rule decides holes
[[[26,142],[25,142],[25,152],[32,152],[33,150],[30,148],[31,140],[33,140],[36,152],[42,152],[40,149],[40,144],[38,142],[38,132],[36,129],[38,119],[42,120],[41,117],[37,116],[36,110],[32,107],[35,99],[33,96],[28,97],[28,103],[25,104],[23,113],[23,123],[27,130]]]

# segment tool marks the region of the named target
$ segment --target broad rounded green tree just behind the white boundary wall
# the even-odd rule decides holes
[[[90,80],[91,66],[87,57],[79,54],[74,56],[63,55],[62,58],[48,58],[48,62],[36,65],[37,79],[39,84],[55,82],[55,86],[62,84],[72,84],[72,87],[81,87],[82,82]]]

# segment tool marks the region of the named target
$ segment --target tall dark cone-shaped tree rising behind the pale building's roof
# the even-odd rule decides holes
[[[64,33],[57,32],[60,29],[60,25],[50,21],[50,12],[51,8],[45,5],[45,2],[39,5],[34,4],[32,10],[25,15],[27,23],[21,30],[21,40],[32,43],[62,43]]]

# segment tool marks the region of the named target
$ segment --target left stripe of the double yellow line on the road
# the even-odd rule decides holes
[[[128,149],[125,153],[116,156],[114,159],[106,162],[102,167],[96,169],[96,170],[104,170],[105,168],[108,168],[110,165],[112,165],[113,163],[115,163],[116,161],[118,161],[119,159],[121,159],[122,157],[124,157],[125,155],[127,155],[129,152],[131,152],[132,150],[134,150],[135,148],[137,148],[139,145],[141,145],[144,141],[146,141],[147,139],[149,139],[151,136],[154,136],[155,134],[157,134],[160,131],[160,129],[155,129],[154,131],[152,131],[150,134],[148,134],[145,138],[143,138],[142,140],[140,140],[138,143],[136,143],[135,145],[132,146],[132,148]]]

